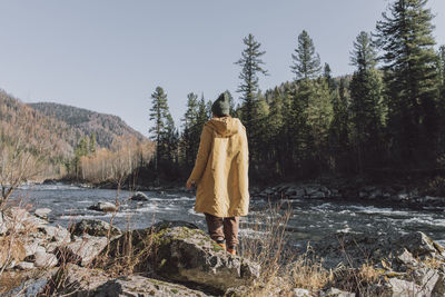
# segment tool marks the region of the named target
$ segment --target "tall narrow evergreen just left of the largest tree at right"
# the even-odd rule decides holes
[[[376,53],[370,36],[362,31],[354,42],[350,56],[356,71],[350,81],[350,111],[353,121],[353,141],[359,171],[366,164],[382,160],[379,147],[385,125],[382,75],[375,69]]]

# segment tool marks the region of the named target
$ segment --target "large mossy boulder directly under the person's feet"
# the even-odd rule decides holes
[[[172,280],[225,291],[259,276],[258,265],[229,255],[202,230],[187,225],[171,227],[166,222],[157,229],[154,244],[155,270]]]

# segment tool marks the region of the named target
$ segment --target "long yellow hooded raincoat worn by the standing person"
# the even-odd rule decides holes
[[[246,216],[249,208],[246,129],[231,117],[212,118],[204,126],[195,168],[196,212],[216,217]]]

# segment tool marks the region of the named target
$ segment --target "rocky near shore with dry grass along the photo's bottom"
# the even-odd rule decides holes
[[[333,234],[270,271],[189,222],[66,229],[46,214],[0,212],[1,296],[445,296],[445,248],[422,232]]]

